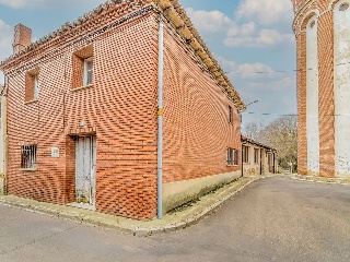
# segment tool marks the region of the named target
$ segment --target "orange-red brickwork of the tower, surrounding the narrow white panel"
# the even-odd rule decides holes
[[[301,175],[311,174],[307,167],[306,71],[313,69],[306,68],[306,24],[314,16],[317,20],[319,171],[313,175],[337,176],[334,7],[338,2],[339,0],[292,0],[295,11],[293,28],[298,48],[298,168]]]

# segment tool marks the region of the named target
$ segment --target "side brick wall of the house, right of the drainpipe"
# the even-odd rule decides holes
[[[241,159],[237,166],[226,166],[226,147],[241,155],[236,107],[184,48],[178,35],[165,28],[163,182],[241,170]]]

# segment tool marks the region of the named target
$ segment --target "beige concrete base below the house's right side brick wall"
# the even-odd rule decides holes
[[[230,183],[241,177],[241,170],[163,184],[163,213]]]

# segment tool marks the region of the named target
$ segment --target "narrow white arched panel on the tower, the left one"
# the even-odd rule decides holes
[[[311,24],[315,21],[315,25]],[[318,56],[317,19],[312,17],[306,26],[306,138],[307,169],[319,174],[319,127],[318,127]]]

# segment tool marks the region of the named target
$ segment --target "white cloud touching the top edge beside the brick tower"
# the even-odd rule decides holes
[[[290,0],[242,0],[236,19],[253,20],[262,25],[291,23],[293,7]]]

